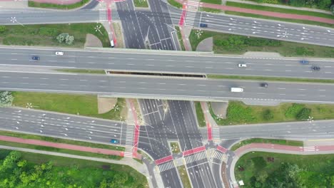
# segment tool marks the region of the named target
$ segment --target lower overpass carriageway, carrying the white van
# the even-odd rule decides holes
[[[114,97],[178,100],[243,100],[246,103],[334,103],[334,85],[248,80],[178,79],[137,76],[2,72],[1,90],[91,93]],[[244,88],[232,93],[231,87]]]

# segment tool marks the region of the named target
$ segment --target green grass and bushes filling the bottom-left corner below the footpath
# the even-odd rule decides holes
[[[10,179],[21,172],[26,179],[11,181],[12,187],[108,187],[111,182],[113,187],[148,187],[143,174],[123,164],[0,150],[1,161],[12,156],[18,157],[11,160],[11,168],[2,178]]]

